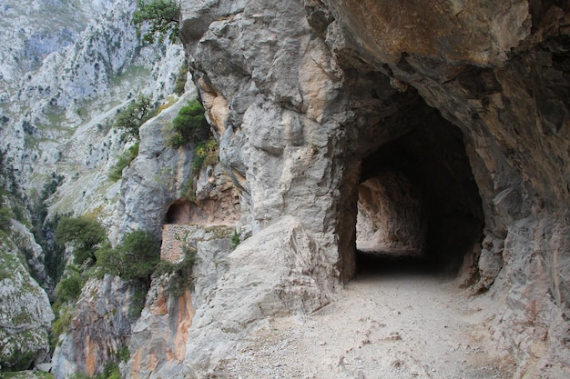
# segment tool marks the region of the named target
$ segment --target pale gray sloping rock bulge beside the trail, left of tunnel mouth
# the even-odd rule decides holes
[[[290,216],[239,244],[228,264],[204,303],[197,302],[177,370],[203,377],[268,317],[314,312],[333,301],[338,284],[318,239]]]

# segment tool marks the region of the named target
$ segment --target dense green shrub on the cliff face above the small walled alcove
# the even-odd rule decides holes
[[[198,103],[198,100],[192,100],[188,105],[181,107],[167,132],[166,145],[175,148],[190,141],[205,140],[209,134],[209,124],[204,115],[204,107]]]

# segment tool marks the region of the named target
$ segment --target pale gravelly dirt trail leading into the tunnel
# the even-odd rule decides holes
[[[278,318],[229,360],[231,378],[510,378],[477,311],[451,280],[364,275],[304,317]]]

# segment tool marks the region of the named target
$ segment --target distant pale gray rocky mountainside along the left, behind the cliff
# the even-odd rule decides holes
[[[130,25],[135,9],[130,1],[3,1],[0,8],[0,147],[20,187],[3,193],[0,205],[13,208],[13,214],[17,210],[22,222],[13,220],[0,232],[7,317],[0,327],[2,366],[13,370],[51,361],[48,331],[54,314],[36,281],[50,292],[55,283],[28,231],[37,194],[53,175],[61,175],[57,193],[40,200],[51,205],[48,216],[97,213],[117,239],[120,182],[111,182],[108,173],[127,141],[113,121],[139,94],[153,102],[175,101],[166,97],[184,55],[179,45],[140,44]],[[113,295],[127,295],[122,292]],[[128,322],[118,330],[128,334]],[[105,357],[94,364],[105,364],[100,362]]]

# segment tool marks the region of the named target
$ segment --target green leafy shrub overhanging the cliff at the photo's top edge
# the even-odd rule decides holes
[[[179,16],[180,7],[175,0],[137,0],[133,24],[141,27],[150,22],[150,30],[143,35],[143,42],[154,44],[158,34],[158,43],[162,44],[167,36],[170,43],[176,43]]]

